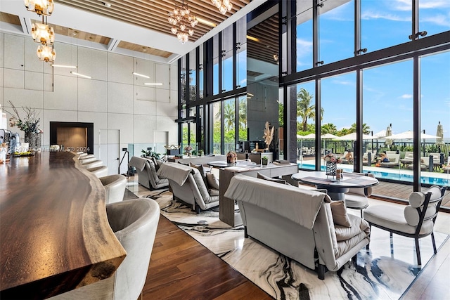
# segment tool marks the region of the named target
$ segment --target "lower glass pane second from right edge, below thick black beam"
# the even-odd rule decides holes
[[[411,150],[413,140],[406,135],[389,138],[390,134],[413,130],[413,60],[373,67],[363,74],[364,124],[379,136],[374,140],[377,157],[371,155],[372,162],[363,159],[363,170],[375,177],[411,184],[405,188],[413,192],[411,164],[401,162],[405,151]],[[387,154],[389,163],[378,163],[382,152]]]

